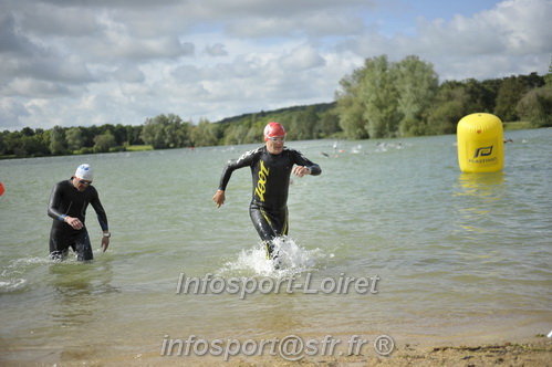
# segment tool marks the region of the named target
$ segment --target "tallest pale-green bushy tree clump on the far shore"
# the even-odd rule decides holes
[[[336,112],[346,137],[421,135],[438,77],[430,63],[415,55],[398,63],[381,55],[365,60],[340,86]]]

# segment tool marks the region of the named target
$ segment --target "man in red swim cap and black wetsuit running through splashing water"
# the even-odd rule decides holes
[[[273,240],[288,234],[288,191],[291,172],[298,177],[317,176],[319,165],[306,159],[300,151],[284,147],[285,130],[279,123],[264,127],[265,145],[230,160],[222,171],[220,184],[212,200],[220,208],[225,203],[225,190],[233,170],[250,167],[253,175],[253,198],[249,214],[261,240],[267,245],[269,259],[277,259]],[[294,166],[295,165],[295,166]],[[278,263],[277,263],[278,265]]]

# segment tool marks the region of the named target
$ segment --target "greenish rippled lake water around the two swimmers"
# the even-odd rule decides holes
[[[258,145],[0,161],[0,360],[138,363],[190,335],[548,334],[552,129],[506,137],[503,171],[485,175],[460,172],[455,135],[288,141],[323,172],[293,179],[281,270],[249,219],[249,169],[223,207],[211,201],[226,161]],[[81,162],[95,169],[111,247],[100,251],[88,208],[94,261],[54,263],[48,200]],[[194,277],[204,294],[185,292]],[[246,293],[253,282],[263,289]]]

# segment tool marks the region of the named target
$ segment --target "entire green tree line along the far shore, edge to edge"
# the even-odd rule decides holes
[[[386,138],[456,133],[458,122],[475,112],[496,114],[502,122],[524,120],[531,127],[552,126],[552,63],[539,76],[512,75],[439,84],[430,63],[415,55],[389,62],[366,59],[345,75],[335,102],[243,114],[197,124],[178,115],[146,118],[142,125],[61,127],[0,133],[0,156],[39,157],[127,150],[239,145],[260,141],[270,120],[282,123],[289,138]]]

